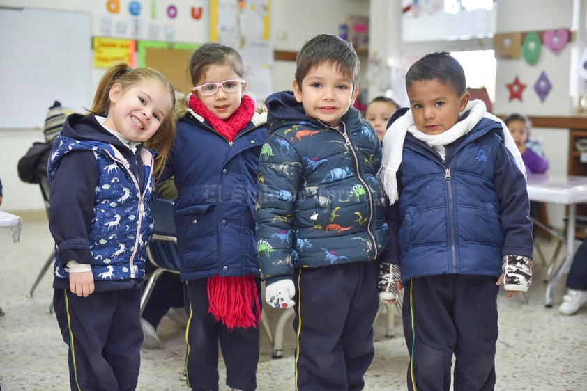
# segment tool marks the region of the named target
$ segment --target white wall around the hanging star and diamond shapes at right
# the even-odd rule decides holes
[[[524,58],[497,60],[496,73],[496,102],[494,111],[508,115],[521,113],[525,115],[552,115],[565,116],[577,115],[577,85],[579,77],[574,71],[577,61],[577,52],[581,51],[584,44],[585,15],[579,13],[579,7],[585,9],[585,0],[533,0],[532,8],[541,10],[533,13],[532,17],[520,17],[528,12],[528,1],[508,1],[508,7],[498,9],[497,32],[510,33],[522,31],[544,31],[550,29],[579,30],[574,42],[558,54],[542,46],[540,58],[535,65],[528,65]],[[503,5],[503,4],[502,4]],[[578,15],[581,14],[581,15]],[[580,21],[579,21],[580,20]],[[544,100],[534,91],[534,84],[544,71],[550,79],[551,89]],[[507,83],[512,83],[514,78],[526,84],[523,99],[509,100],[510,93],[504,88]],[[587,118],[586,118],[587,121]],[[548,173],[551,175],[566,175],[568,161],[569,131],[567,129],[533,128],[532,136],[542,139],[544,154],[549,159]],[[556,227],[563,226],[565,207],[562,205],[548,204],[549,223]]]

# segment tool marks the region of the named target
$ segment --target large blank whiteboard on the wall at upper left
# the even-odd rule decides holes
[[[43,127],[55,100],[89,107],[89,13],[0,8],[0,128]]]

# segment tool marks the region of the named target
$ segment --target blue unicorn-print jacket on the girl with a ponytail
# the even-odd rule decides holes
[[[72,115],[47,166],[49,228],[56,244],[54,288],[69,289],[67,262],[91,264],[96,291],[144,278],[153,232],[153,154],[123,145],[94,115]]]

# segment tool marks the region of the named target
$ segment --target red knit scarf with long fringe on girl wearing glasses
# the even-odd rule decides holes
[[[245,129],[254,114],[254,101],[243,95],[241,106],[228,118],[221,120],[197,99],[190,95],[190,109],[206,120],[212,128],[228,141],[234,141],[239,131]],[[252,275],[208,278],[208,313],[221,321],[229,330],[257,327],[261,320],[261,306],[257,284]]]

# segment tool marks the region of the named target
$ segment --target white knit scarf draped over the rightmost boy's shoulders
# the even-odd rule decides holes
[[[443,131],[441,134],[430,135],[425,134],[423,131],[418,130],[414,125],[411,110],[407,111],[402,117],[398,118],[392,125],[387,129],[386,135],[383,138],[383,161],[381,164],[381,170],[379,170],[378,177],[383,182],[383,188],[385,189],[390,204],[397,201],[397,170],[399,165],[402,163],[402,150],[404,147],[404,140],[406,138],[406,132],[410,132],[420,141],[424,141],[431,147],[439,147],[448,145],[457,138],[467,134],[475,125],[479,123],[481,118],[489,118],[501,124],[503,128],[503,143],[506,148],[513,155],[518,168],[526,177],[526,167],[524,161],[521,159],[521,154],[514,142],[514,139],[510,135],[508,127],[505,126],[503,121],[497,118],[491,113],[487,113],[485,109],[485,103],[481,100],[472,100],[468,102],[466,109],[460,113],[461,117],[464,113],[468,113],[468,116],[455,125],[453,125],[447,131]]]

